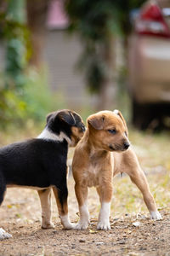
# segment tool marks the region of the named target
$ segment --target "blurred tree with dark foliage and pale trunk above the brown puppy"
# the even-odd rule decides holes
[[[70,31],[82,38],[78,66],[85,70],[88,89],[99,94],[99,108],[108,106],[114,71],[114,38],[129,32],[129,11],[144,0],[65,0]]]

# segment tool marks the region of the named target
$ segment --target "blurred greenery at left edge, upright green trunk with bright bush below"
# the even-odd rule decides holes
[[[62,105],[62,99],[56,101],[49,92],[44,70],[39,69],[37,73],[32,67],[28,68],[32,52],[26,0],[4,3],[3,11],[0,8],[0,36],[6,49],[5,68],[0,77],[0,128],[10,129],[26,125],[30,119],[44,121],[48,111]]]

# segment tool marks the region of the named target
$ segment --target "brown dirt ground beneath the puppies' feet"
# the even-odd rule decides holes
[[[71,221],[77,222],[74,183],[69,178]],[[135,201],[134,201],[135,203]],[[89,190],[91,224],[88,230],[63,230],[53,197],[53,230],[42,230],[37,191],[8,189],[0,211],[1,227],[13,235],[0,241],[0,256],[8,255],[170,255],[170,213],[161,210],[163,220],[153,221],[148,213],[119,212],[111,217],[111,230],[96,230],[99,199]],[[139,226],[133,223],[139,222]]]

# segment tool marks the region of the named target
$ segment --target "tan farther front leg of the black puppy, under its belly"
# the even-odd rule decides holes
[[[37,190],[42,206],[42,229],[54,228],[51,220],[51,189]]]

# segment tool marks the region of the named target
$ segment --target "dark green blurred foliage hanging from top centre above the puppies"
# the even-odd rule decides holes
[[[84,50],[78,67],[85,70],[85,78],[91,92],[98,92],[107,78],[108,65],[104,56],[104,44],[114,31],[120,31],[113,1],[66,1],[65,8],[71,20],[70,31],[78,32]]]

